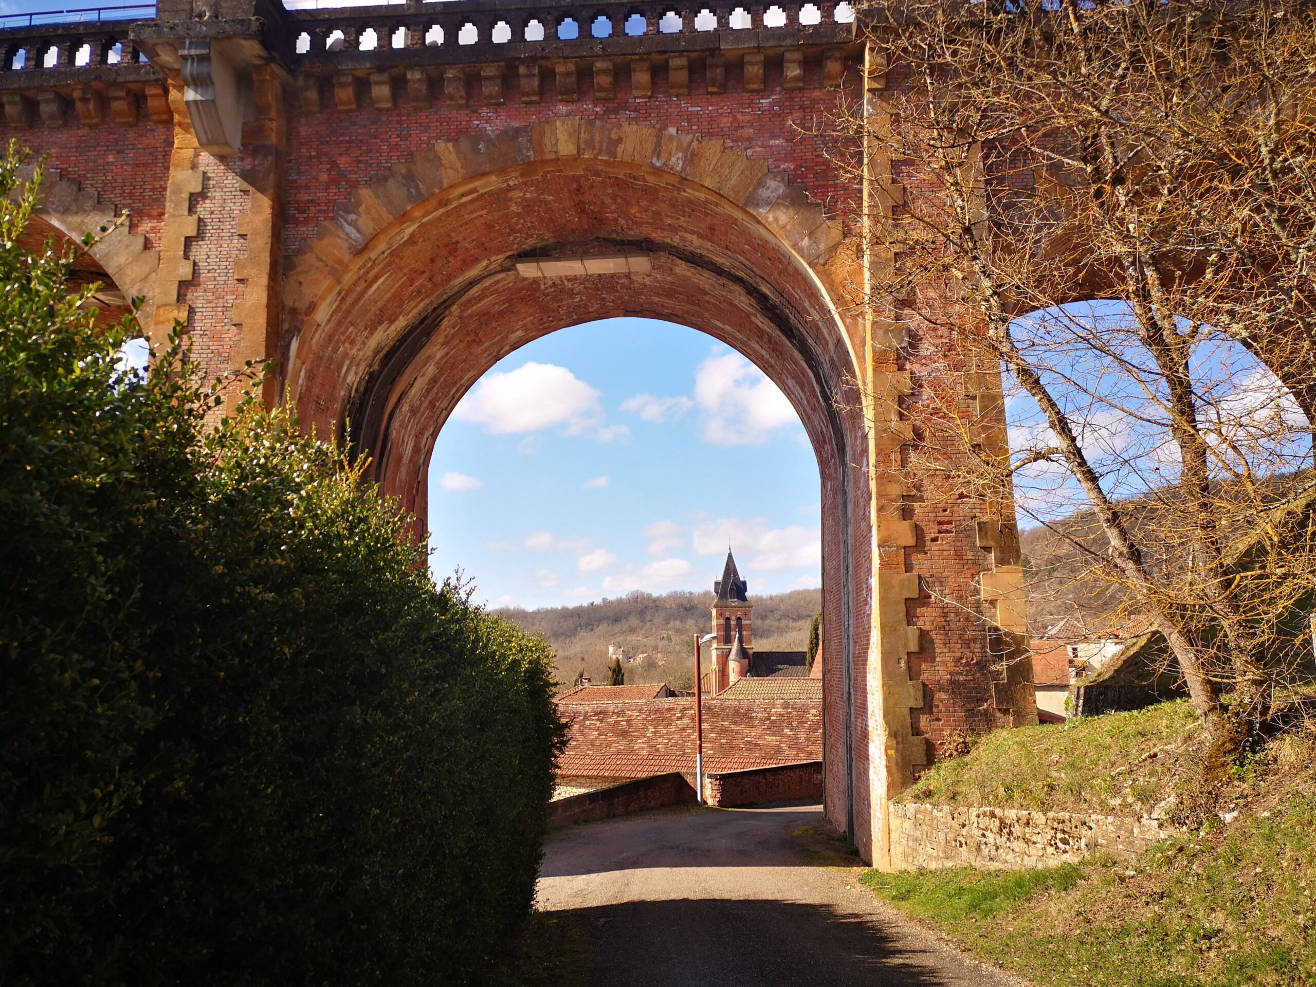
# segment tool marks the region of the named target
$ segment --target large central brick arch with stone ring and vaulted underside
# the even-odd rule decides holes
[[[636,253],[644,274],[524,278],[517,259]],[[828,811],[853,820],[857,649],[869,646],[871,524],[854,257],[786,176],[719,141],[576,118],[416,154],[340,203],[286,276],[286,393],[307,426],[372,457],[424,512],[462,393],[501,357],[575,322],[637,315],[709,333],[792,401],[824,496]],[[350,428],[347,422],[350,421]],[[859,826],[859,832],[865,826]],[[851,832],[855,832],[851,822]]]

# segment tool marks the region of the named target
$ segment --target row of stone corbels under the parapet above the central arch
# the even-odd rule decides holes
[[[763,91],[765,59],[762,51],[747,51],[740,59],[742,86],[745,92]],[[780,54],[782,88],[797,91],[804,88],[804,51],[792,49]],[[726,92],[726,57],[721,53],[701,59],[704,66],[704,87],[709,95]],[[575,103],[580,99],[579,78],[582,71],[590,72],[594,82],[594,99],[612,100],[616,97],[617,75],[630,72],[630,96],[637,100],[653,97],[653,75],[655,62],[667,70],[667,95],[686,99],[691,92],[690,55],[667,55],[666,58],[612,59],[597,58],[579,61],[526,61],[517,62],[517,99],[525,104],[536,104],[544,99],[544,79],[549,76],[561,103]],[[845,71],[845,55],[841,49],[828,49],[822,53],[822,84],[836,88],[841,84]],[[411,67],[401,71],[379,70],[368,74],[336,72],[332,76],[333,105],[340,112],[350,113],[361,107],[361,80],[365,79],[370,103],[375,109],[387,111],[397,107],[397,88],[407,92],[408,105],[428,109],[438,99],[453,109],[461,109],[470,103],[471,80],[478,80],[479,99],[486,107],[500,107],[507,99],[507,80],[511,72],[504,62],[480,66]],[[301,111],[318,113],[322,108],[321,78],[301,75],[297,79]]]

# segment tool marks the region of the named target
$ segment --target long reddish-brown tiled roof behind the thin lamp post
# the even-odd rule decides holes
[[[817,699],[704,700],[704,770],[742,771],[822,757]],[[695,770],[695,700],[578,703],[562,708],[570,730],[559,775],[645,778]]]

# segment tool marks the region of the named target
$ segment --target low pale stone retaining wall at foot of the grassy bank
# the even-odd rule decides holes
[[[1021,869],[1130,858],[1175,830],[1154,819],[891,803],[891,867]]]

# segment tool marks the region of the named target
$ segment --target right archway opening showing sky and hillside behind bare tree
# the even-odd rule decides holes
[[[1249,675],[1309,680],[1312,426],[1277,374],[1117,300],[1012,334],[1033,375],[1007,372],[1004,407],[1038,708],[1101,712],[1117,687],[1117,708],[1192,691],[1200,711]]]

